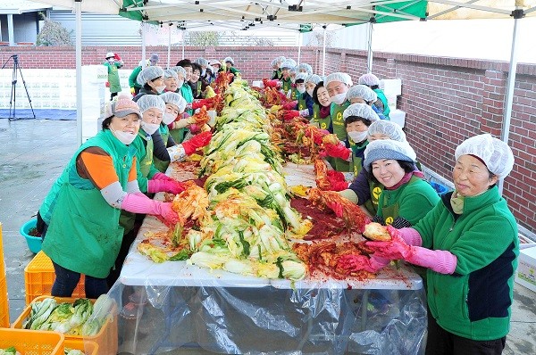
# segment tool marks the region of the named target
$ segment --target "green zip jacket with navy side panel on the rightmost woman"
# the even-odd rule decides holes
[[[507,335],[519,255],[517,224],[497,186],[465,198],[464,212],[450,207],[452,193],[415,229],[423,247],[456,255],[453,275],[427,270],[428,306],[438,324],[476,341]]]

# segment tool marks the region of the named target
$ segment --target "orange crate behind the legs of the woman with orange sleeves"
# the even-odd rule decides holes
[[[34,259],[24,268],[24,285],[26,288],[26,304],[38,296],[50,295],[54,284],[55,273],[52,260],[44,252],[38,252]],[[81,298],[86,296],[84,290],[85,277],[80,276],[79,285],[72,292],[72,297]]]

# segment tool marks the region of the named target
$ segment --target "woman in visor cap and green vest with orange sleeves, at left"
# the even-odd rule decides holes
[[[86,296],[108,292],[105,277],[119,252],[120,211],[160,215],[179,221],[171,203],[141,194],[136,179],[136,150],[141,113],[129,95],[107,104],[102,127],[73,155],[39,209],[45,223],[43,251],[53,261],[52,295],[71,297],[80,274]]]

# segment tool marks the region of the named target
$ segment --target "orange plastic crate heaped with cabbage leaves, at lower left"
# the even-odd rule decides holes
[[[47,297],[50,296],[40,296],[34,300],[34,302],[37,301],[43,301]],[[63,302],[69,302],[74,303],[76,301],[76,298],[63,298],[63,297],[54,297],[54,299],[58,303]],[[95,302],[96,300],[91,300],[92,302]],[[15,329],[21,329],[22,323],[24,322],[24,319],[28,318],[29,312],[31,311],[31,304],[26,306],[26,308],[22,311],[21,316],[17,318],[13,322],[12,328]],[[87,341],[96,343],[98,345],[98,353],[99,355],[116,355],[117,354],[117,311],[112,310],[111,316],[106,319],[105,324],[101,327],[99,332],[94,336],[81,336],[81,335],[70,335],[70,334],[64,334],[66,340],[75,340],[78,342],[86,343]]]

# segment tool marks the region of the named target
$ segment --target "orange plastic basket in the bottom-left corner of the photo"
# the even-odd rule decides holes
[[[24,355],[63,355],[63,334],[0,328],[0,348],[14,346]]]

